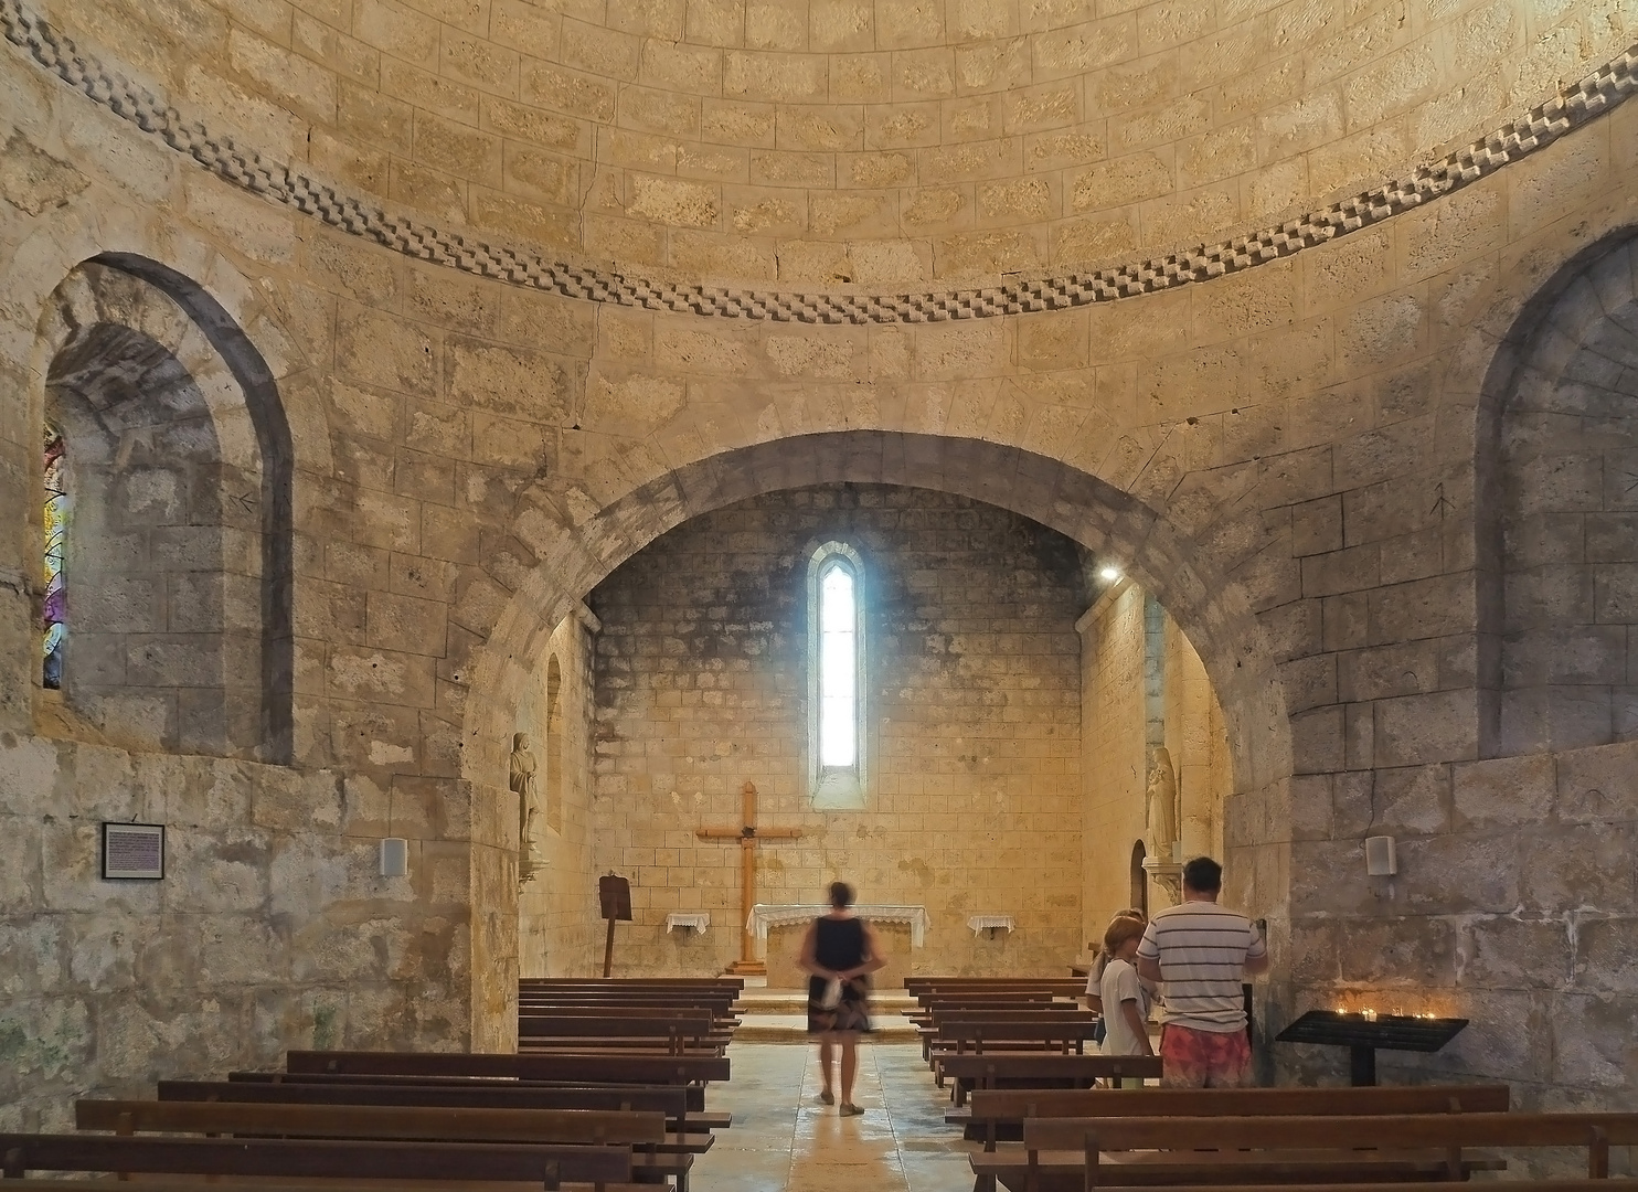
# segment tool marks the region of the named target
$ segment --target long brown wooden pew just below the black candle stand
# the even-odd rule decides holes
[[[1119,1056],[1106,1056],[1119,1059]],[[1160,1064],[1155,1064],[1158,1076]],[[1422,1084],[1368,1089],[975,1089],[966,1136],[1022,1138],[1024,1120],[1091,1117],[1268,1117],[1379,1113],[1505,1113],[1505,1084]],[[947,1122],[953,1118],[945,1117]]]

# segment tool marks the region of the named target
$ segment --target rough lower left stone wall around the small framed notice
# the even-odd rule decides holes
[[[0,732],[0,1128],[287,1048],[462,1045],[467,858],[406,794]],[[103,820],[164,824],[164,881],[103,881]],[[380,876],[391,833],[406,878]]]

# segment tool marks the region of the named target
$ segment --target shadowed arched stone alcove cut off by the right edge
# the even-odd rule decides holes
[[[1638,737],[1631,233],[1568,264],[1504,344],[1481,424],[1487,753]]]

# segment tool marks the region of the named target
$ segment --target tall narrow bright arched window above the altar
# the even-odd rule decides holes
[[[865,806],[863,567],[840,542],[808,568],[808,755],[816,807]]]

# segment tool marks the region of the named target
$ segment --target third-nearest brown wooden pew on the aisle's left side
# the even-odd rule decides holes
[[[519,1086],[496,1081],[447,1084],[398,1084],[398,1077],[324,1076],[323,1084],[244,1081],[161,1081],[159,1100],[246,1102],[254,1105],[449,1105],[468,1108],[604,1108],[665,1113],[665,1127],[686,1138],[713,1138],[732,1125],[729,1113],[690,1110],[691,1094],[681,1086]],[[346,1082],[337,1082],[346,1081]],[[367,1082],[373,1081],[373,1082]],[[693,1146],[690,1149],[704,1149]]]

